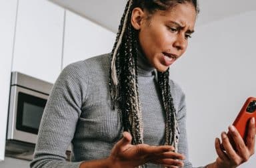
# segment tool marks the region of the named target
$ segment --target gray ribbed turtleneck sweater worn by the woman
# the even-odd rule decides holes
[[[31,167],[76,167],[82,161],[109,156],[122,135],[117,110],[109,94],[110,54],[75,62],[63,69],[55,82],[39,128]],[[163,145],[165,114],[155,82],[154,68],[145,57],[138,58],[138,85],[143,112],[144,143]],[[179,153],[188,159],[185,95],[169,82],[180,129]],[[71,144],[71,162],[65,151]],[[184,161],[186,168],[192,165]],[[147,167],[161,167],[147,164]]]

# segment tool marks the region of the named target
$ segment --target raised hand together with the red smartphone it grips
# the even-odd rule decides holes
[[[256,98],[248,98],[229,132],[222,132],[221,139],[215,139],[218,157],[213,167],[238,167],[255,153],[255,116]]]

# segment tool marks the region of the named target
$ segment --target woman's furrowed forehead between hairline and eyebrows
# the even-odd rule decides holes
[[[157,19],[158,21],[175,21],[182,27],[193,29],[195,27],[196,16],[195,7],[191,3],[181,3],[165,11],[156,11],[151,16],[151,19]]]

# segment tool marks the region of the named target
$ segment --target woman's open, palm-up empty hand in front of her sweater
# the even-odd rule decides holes
[[[167,167],[183,167],[184,155],[173,152],[174,147],[169,145],[151,146],[146,144],[131,145],[131,134],[123,133],[108,158],[110,167],[129,168],[145,163],[155,163]]]

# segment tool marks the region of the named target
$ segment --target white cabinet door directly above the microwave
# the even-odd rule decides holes
[[[13,71],[55,82],[61,70],[64,9],[46,0],[19,1]]]

